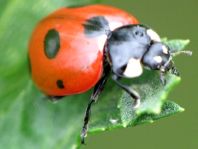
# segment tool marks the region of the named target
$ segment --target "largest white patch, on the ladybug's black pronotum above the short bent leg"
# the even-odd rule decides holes
[[[123,75],[128,78],[135,78],[135,77],[139,77],[142,74],[142,72],[143,69],[140,60],[131,58],[128,61],[128,64],[126,66]]]

